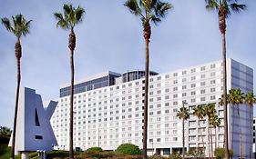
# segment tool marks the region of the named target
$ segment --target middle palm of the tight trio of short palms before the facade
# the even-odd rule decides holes
[[[207,116],[208,119],[208,143],[211,144],[210,148],[209,148],[209,157],[211,157],[212,154],[212,140],[210,142],[210,119],[214,116],[214,114],[216,114],[216,109],[215,109],[215,105],[214,104],[206,104],[205,105],[205,114]]]

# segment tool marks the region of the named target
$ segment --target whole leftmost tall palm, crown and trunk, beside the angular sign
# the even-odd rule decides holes
[[[10,20],[6,17],[2,18],[2,24],[5,25],[7,31],[13,33],[16,36],[15,43],[15,58],[16,58],[16,67],[17,67],[17,87],[15,94],[15,118],[14,118],[14,127],[13,127],[13,139],[12,139],[12,152],[11,158],[15,158],[15,136],[16,136],[16,122],[17,122],[17,110],[18,110],[18,100],[19,100],[19,89],[20,89],[20,81],[21,81],[21,68],[20,61],[22,57],[22,47],[20,43],[20,38],[26,36],[29,33],[29,27],[31,20],[26,21],[23,15],[15,15],[12,16],[13,24],[11,24]]]

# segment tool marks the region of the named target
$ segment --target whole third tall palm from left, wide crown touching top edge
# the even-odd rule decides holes
[[[143,36],[146,45],[146,65],[145,65],[145,96],[144,96],[144,125],[143,125],[143,158],[147,156],[147,138],[148,138],[148,69],[149,69],[149,51],[148,45],[151,36],[150,23],[155,25],[161,22],[168,13],[172,5],[163,3],[159,0],[128,0],[125,4],[129,11],[141,19],[143,26]]]

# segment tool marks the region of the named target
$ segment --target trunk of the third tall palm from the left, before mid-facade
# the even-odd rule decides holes
[[[147,140],[148,140],[148,70],[149,70],[149,39],[151,35],[151,28],[149,23],[144,25],[144,39],[146,45],[146,65],[145,65],[145,96],[144,96],[144,124],[143,124],[143,159],[147,159]]]

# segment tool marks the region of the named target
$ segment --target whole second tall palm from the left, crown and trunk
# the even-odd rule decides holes
[[[55,13],[57,20],[56,26],[63,29],[69,29],[68,48],[70,50],[70,69],[71,69],[71,86],[70,86],[70,123],[69,123],[69,158],[74,159],[73,151],[73,97],[74,97],[74,50],[76,47],[76,35],[74,27],[82,21],[85,10],[78,6],[77,8],[72,5],[63,6],[64,15]]]

